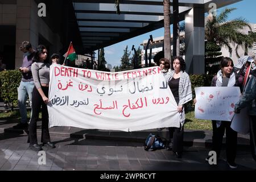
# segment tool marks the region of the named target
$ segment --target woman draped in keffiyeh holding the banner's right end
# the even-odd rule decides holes
[[[191,81],[185,72],[185,61],[182,57],[174,57],[171,61],[172,71],[166,76],[166,81],[177,102],[177,111],[180,113],[180,127],[169,127],[169,146],[177,158],[182,157],[183,131],[185,122],[184,104],[192,100]]]

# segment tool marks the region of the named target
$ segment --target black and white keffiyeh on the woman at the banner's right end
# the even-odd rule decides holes
[[[166,81],[169,82],[172,77],[174,77],[174,71],[171,71],[166,76]],[[179,81],[179,105],[184,105],[188,101],[192,100],[192,89],[191,81],[189,79],[188,73],[180,71],[180,81]],[[180,123],[184,125],[185,122],[185,110],[183,107],[183,112],[180,113]]]

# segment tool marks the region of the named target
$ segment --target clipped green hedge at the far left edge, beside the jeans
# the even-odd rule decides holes
[[[12,108],[18,105],[18,87],[22,74],[18,70],[0,72],[0,92],[2,100],[11,103]]]

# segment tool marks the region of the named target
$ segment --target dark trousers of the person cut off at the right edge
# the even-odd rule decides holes
[[[256,115],[250,116],[250,146],[251,146],[251,155],[256,161]]]

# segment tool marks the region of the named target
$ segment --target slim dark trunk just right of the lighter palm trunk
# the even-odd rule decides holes
[[[173,7],[173,19],[174,19],[174,26],[173,26],[173,56],[180,56],[180,23],[179,23],[179,0],[172,1]]]

